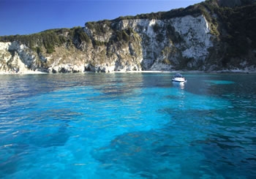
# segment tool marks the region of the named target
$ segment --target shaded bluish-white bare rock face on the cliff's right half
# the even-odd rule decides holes
[[[167,39],[167,24],[173,26],[183,42],[173,44]],[[158,26],[159,31],[154,31],[154,26]],[[140,34],[143,39],[143,63],[146,68],[151,70],[170,70],[171,65],[162,64],[162,50],[165,47],[175,46],[183,57],[194,58],[190,61],[188,67],[195,66],[198,61],[204,61],[208,56],[208,47],[212,47],[212,35],[208,22],[203,15],[192,17],[187,15],[182,18],[173,18],[170,20],[121,20],[118,23],[120,29],[131,27]],[[162,36],[159,42],[159,37]],[[173,56],[172,61],[177,61],[177,56]]]

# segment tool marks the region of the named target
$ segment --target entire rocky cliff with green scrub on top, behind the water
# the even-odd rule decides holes
[[[252,0],[211,0],[85,26],[0,37],[0,72],[256,69]]]

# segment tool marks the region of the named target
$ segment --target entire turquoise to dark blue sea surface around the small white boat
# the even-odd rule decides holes
[[[256,178],[256,75],[0,76],[0,178]]]

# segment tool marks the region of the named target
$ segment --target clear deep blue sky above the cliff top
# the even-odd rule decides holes
[[[50,28],[165,12],[203,0],[0,0],[0,36],[34,34]]]

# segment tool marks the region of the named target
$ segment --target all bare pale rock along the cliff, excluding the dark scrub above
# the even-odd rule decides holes
[[[210,28],[203,15],[169,20],[120,20],[115,24],[118,29],[114,30],[104,24],[100,26],[105,29],[105,34],[88,27],[83,30],[91,39],[105,42],[103,45],[83,42],[80,50],[62,47],[59,53],[50,55],[37,54],[18,42],[0,42],[0,71],[26,72],[41,67],[48,72],[170,70],[184,58],[191,58],[187,66],[192,68],[205,61],[208,47],[213,46]],[[128,28],[133,30],[129,42],[107,46],[116,30]],[[176,37],[178,40],[172,39]]]

